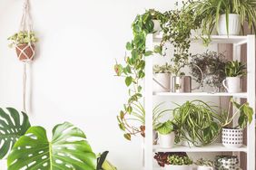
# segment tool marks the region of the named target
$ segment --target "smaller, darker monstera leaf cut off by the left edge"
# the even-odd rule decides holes
[[[24,112],[20,114],[13,108],[7,108],[7,111],[8,113],[0,109],[0,159],[9,153],[17,139],[23,136],[30,127],[28,117]]]

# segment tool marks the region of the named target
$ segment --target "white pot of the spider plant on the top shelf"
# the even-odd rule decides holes
[[[227,33],[226,14],[222,14],[217,24],[219,35],[239,35],[241,31],[241,16],[229,14],[229,33]]]

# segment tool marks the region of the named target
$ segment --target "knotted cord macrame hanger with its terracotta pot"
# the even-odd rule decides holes
[[[32,19],[29,11],[29,0],[25,0],[24,11],[20,23],[19,32],[27,32],[28,37],[33,31]],[[18,59],[23,61],[24,73],[23,73],[23,110],[26,112],[26,80],[27,80],[27,64],[34,59],[35,47],[31,42],[25,44],[15,44],[16,53]]]

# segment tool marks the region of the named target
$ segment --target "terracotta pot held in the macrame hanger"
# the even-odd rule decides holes
[[[20,61],[33,60],[34,50],[35,50],[34,44],[28,45],[25,43],[25,44],[17,45],[16,47],[17,57],[19,58]]]

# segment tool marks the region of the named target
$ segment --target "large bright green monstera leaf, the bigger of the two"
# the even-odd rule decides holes
[[[52,141],[44,127],[30,127],[8,156],[8,170],[95,170],[96,156],[84,132],[68,122],[56,125]]]

